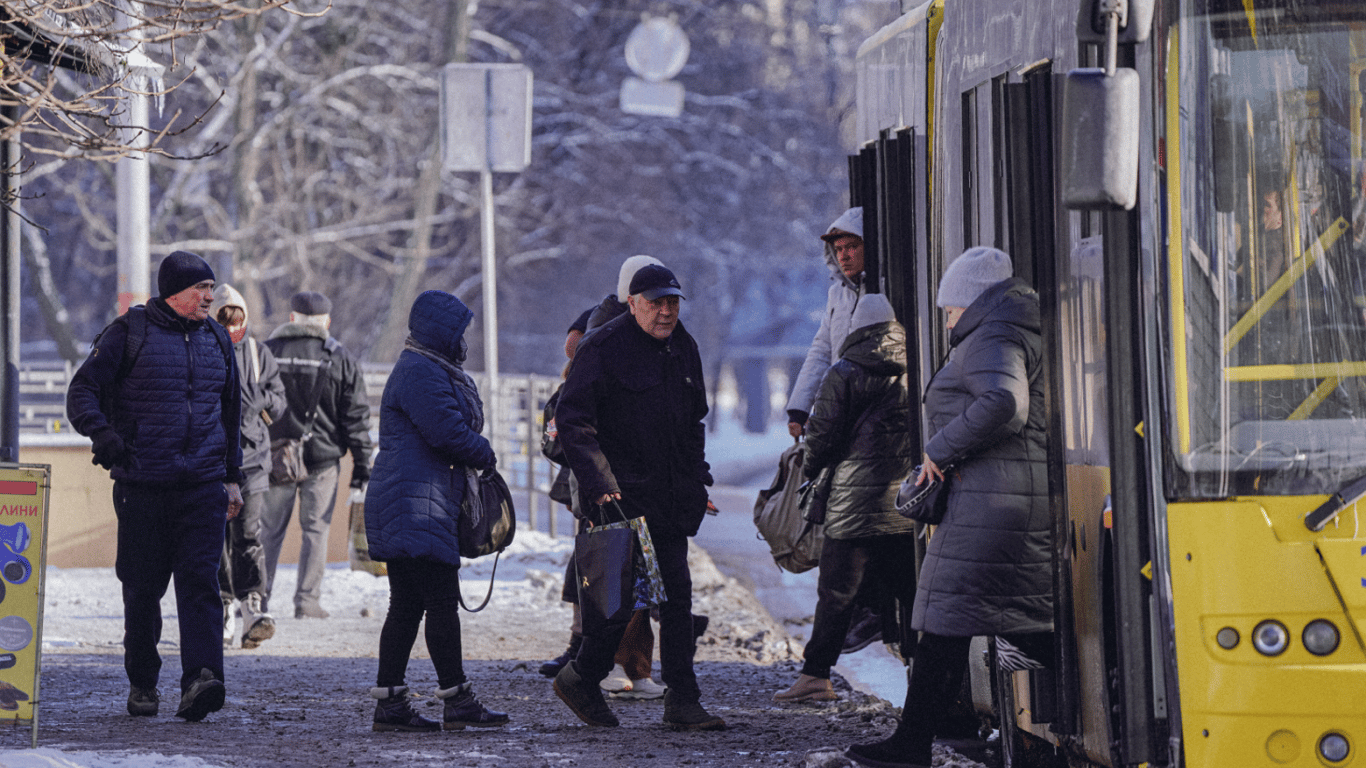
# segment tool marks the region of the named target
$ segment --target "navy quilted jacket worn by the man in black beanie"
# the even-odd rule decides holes
[[[213,320],[186,320],[163,299],[146,313],[137,359],[120,377],[127,316],[116,318],[71,377],[67,415],[76,432],[112,428],[127,455],[109,476],[127,482],[184,486],[242,482],[242,395],[232,358]]]

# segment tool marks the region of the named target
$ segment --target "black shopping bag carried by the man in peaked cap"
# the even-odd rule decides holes
[[[574,537],[585,625],[626,620],[635,611],[635,532],[594,526]]]

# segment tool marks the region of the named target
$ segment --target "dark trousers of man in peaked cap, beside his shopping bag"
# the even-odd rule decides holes
[[[660,676],[673,696],[697,700],[701,690],[693,670],[697,638],[693,637],[693,574],[687,568],[687,537],[654,532],[650,537],[668,599],[660,605]],[[598,622],[585,614],[583,645],[574,661],[585,681],[597,685],[612,671],[613,657],[630,622],[631,615],[616,622]]]

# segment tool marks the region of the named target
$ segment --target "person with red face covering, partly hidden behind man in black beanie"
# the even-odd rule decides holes
[[[272,421],[284,415],[284,383],[280,366],[265,344],[247,335],[247,302],[232,286],[213,288],[212,317],[232,338],[232,354],[242,383],[242,514],[228,521],[219,563],[223,597],[223,642],[232,645],[232,604],[242,601],[242,648],[258,648],[275,637],[275,616],[265,609],[265,548],[261,545],[261,512],[270,488]]]

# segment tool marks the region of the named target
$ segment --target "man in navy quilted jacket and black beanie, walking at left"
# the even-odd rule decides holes
[[[71,377],[67,415],[113,478],[128,713],[158,709],[161,596],[173,575],[176,716],[202,720],[225,696],[219,556],[225,521],[242,510],[242,396],[232,342],[209,318],[209,265],[178,250],[161,262],[157,288],[96,339]]]

